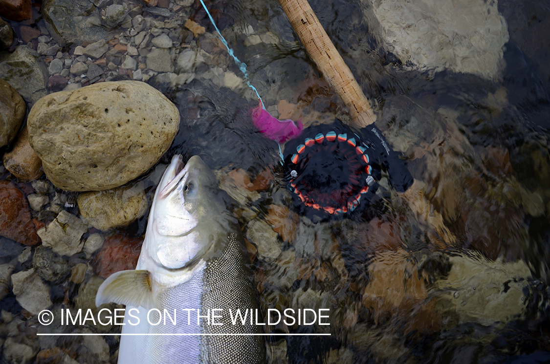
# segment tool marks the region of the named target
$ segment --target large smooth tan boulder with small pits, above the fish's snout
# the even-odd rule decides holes
[[[179,112],[144,82],[100,82],[41,98],[27,124],[30,144],[54,185],[103,191],[158,161],[178,132]]]

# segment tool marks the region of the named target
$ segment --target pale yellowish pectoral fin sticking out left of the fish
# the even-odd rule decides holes
[[[100,285],[96,306],[115,302],[119,305],[153,308],[151,272],[141,270],[120,271],[109,276]]]

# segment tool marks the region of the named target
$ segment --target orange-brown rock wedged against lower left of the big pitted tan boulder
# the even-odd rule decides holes
[[[12,151],[4,154],[4,167],[21,181],[32,181],[40,177],[42,161],[29,144],[29,134],[25,125]]]

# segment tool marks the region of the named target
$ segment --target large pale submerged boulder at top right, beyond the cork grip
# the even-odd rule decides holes
[[[403,64],[495,78],[503,68],[503,46],[509,39],[497,5],[483,0],[378,0],[372,2],[372,10],[386,46]]]

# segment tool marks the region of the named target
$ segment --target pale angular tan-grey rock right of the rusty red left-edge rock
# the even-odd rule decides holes
[[[73,255],[82,250],[84,241],[82,235],[88,230],[88,225],[80,218],[62,210],[50,224],[38,230],[42,244],[51,247],[59,255]]]

